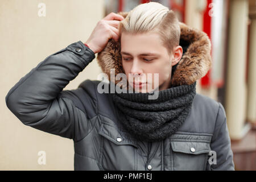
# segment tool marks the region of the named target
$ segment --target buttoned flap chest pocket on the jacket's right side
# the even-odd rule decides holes
[[[209,158],[211,136],[180,135],[171,138],[174,170],[205,170]]]

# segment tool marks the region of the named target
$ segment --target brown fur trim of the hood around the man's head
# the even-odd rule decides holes
[[[128,13],[118,14],[125,18]],[[205,32],[180,22],[180,46],[183,48],[183,56],[172,69],[172,86],[191,85],[204,77],[212,65],[210,39]],[[120,41],[115,42],[110,39],[106,47],[97,55],[98,64],[108,75],[109,80],[110,69],[115,69],[115,76],[124,73],[120,51]]]

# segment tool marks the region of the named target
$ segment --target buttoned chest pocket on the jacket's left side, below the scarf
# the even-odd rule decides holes
[[[108,118],[105,118],[108,119]],[[137,144],[119,131],[113,121],[102,122],[101,165],[105,170],[136,170]]]

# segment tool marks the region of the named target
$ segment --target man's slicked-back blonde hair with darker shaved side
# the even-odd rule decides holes
[[[122,32],[137,34],[152,31],[158,33],[169,55],[175,46],[179,46],[179,20],[174,11],[158,2],[148,2],[136,6],[119,23],[118,29],[120,37]]]

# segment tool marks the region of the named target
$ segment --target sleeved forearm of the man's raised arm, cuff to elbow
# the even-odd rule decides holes
[[[95,55],[82,42],[48,56],[22,77],[6,96],[6,104],[19,118],[28,112],[47,109],[69,81],[73,80]]]

